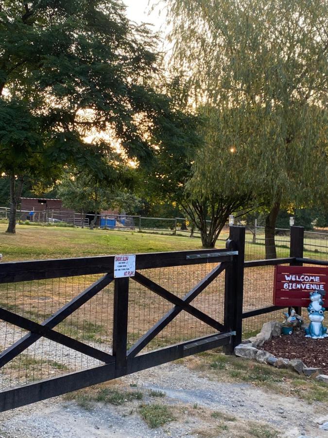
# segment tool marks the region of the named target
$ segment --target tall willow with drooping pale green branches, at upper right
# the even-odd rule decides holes
[[[327,188],[328,2],[165,2],[173,70],[187,72],[196,107],[217,111],[217,146],[198,155],[191,193],[206,198],[228,183],[256,196],[267,209],[266,257],[276,257],[279,208],[310,206]]]

